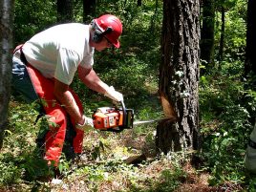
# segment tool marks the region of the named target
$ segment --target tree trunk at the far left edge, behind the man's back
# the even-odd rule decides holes
[[[8,106],[11,95],[11,50],[12,47],[12,10],[14,1],[0,1],[0,149],[3,133],[8,125]]]

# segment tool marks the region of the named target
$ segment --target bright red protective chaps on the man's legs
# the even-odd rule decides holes
[[[41,75],[32,65],[27,64],[28,73],[32,79],[32,85],[36,94],[40,97],[43,103],[45,114],[49,117],[50,130],[45,138],[45,156],[44,159],[48,160],[48,164],[57,166],[61,156],[63,144],[65,141],[67,129],[67,112],[65,108],[55,99],[53,95],[54,81]],[[79,107],[80,112],[83,112],[83,107],[80,99],[75,92],[70,88],[69,91],[75,98],[75,102]],[[75,120],[71,117],[73,127],[75,128]],[[76,154],[82,152],[82,142],[84,132],[75,128],[75,139],[73,147]]]

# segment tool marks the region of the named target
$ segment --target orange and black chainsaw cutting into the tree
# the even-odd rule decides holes
[[[126,109],[124,102],[120,102],[121,107],[101,107],[93,114],[94,127],[100,131],[121,132],[124,129],[133,129],[134,125],[151,123],[170,117],[160,119],[150,119],[134,122],[134,110]]]

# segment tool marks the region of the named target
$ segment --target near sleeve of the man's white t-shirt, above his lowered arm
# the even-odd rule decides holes
[[[67,49],[59,49],[54,77],[70,85],[80,60],[78,53]]]

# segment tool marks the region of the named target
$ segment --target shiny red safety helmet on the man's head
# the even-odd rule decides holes
[[[104,14],[100,17],[94,19],[98,29],[101,32],[106,32],[111,29],[111,32],[106,32],[104,36],[116,47],[120,47],[120,42],[118,41],[119,36],[122,32],[121,21],[112,14]]]

